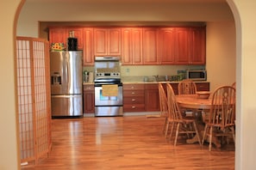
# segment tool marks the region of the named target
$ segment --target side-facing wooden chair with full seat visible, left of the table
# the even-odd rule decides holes
[[[175,94],[173,92],[171,84],[167,83],[167,101],[169,116],[167,124],[171,124],[170,140],[172,139],[172,131],[176,128],[174,146],[176,146],[178,134],[196,134],[198,143],[201,145],[201,140],[197,130],[197,124],[195,118],[184,118],[179,110],[178,103],[176,101]],[[168,125],[167,125],[168,127]]]

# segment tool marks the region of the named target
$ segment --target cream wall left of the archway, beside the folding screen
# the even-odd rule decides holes
[[[0,169],[16,170],[20,156],[16,114],[15,15],[20,0],[0,1]]]

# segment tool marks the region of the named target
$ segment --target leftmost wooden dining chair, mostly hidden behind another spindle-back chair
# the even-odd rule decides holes
[[[164,128],[163,132],[165,133],[165,137],[167,136],[168,127],[167,121],[168,121],[168,105],[167,105],[167,96],[165,93],[165,89],[163,87],[163,84],[159,82],[159,106],[160,106],[160,117],[165,118]]]

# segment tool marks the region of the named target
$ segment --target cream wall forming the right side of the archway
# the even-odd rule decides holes
[[[233,5],[232,1],[230,1]],[[256,1],[234,0],[237,23],[237,127],[236,168],[253,170],[256,167]],[[240,23],[240,24],[239,24]]]

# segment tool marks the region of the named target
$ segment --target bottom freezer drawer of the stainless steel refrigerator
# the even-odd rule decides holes
[[[52,116],[82,116],[83,98],[77,95],[52,95]]]

